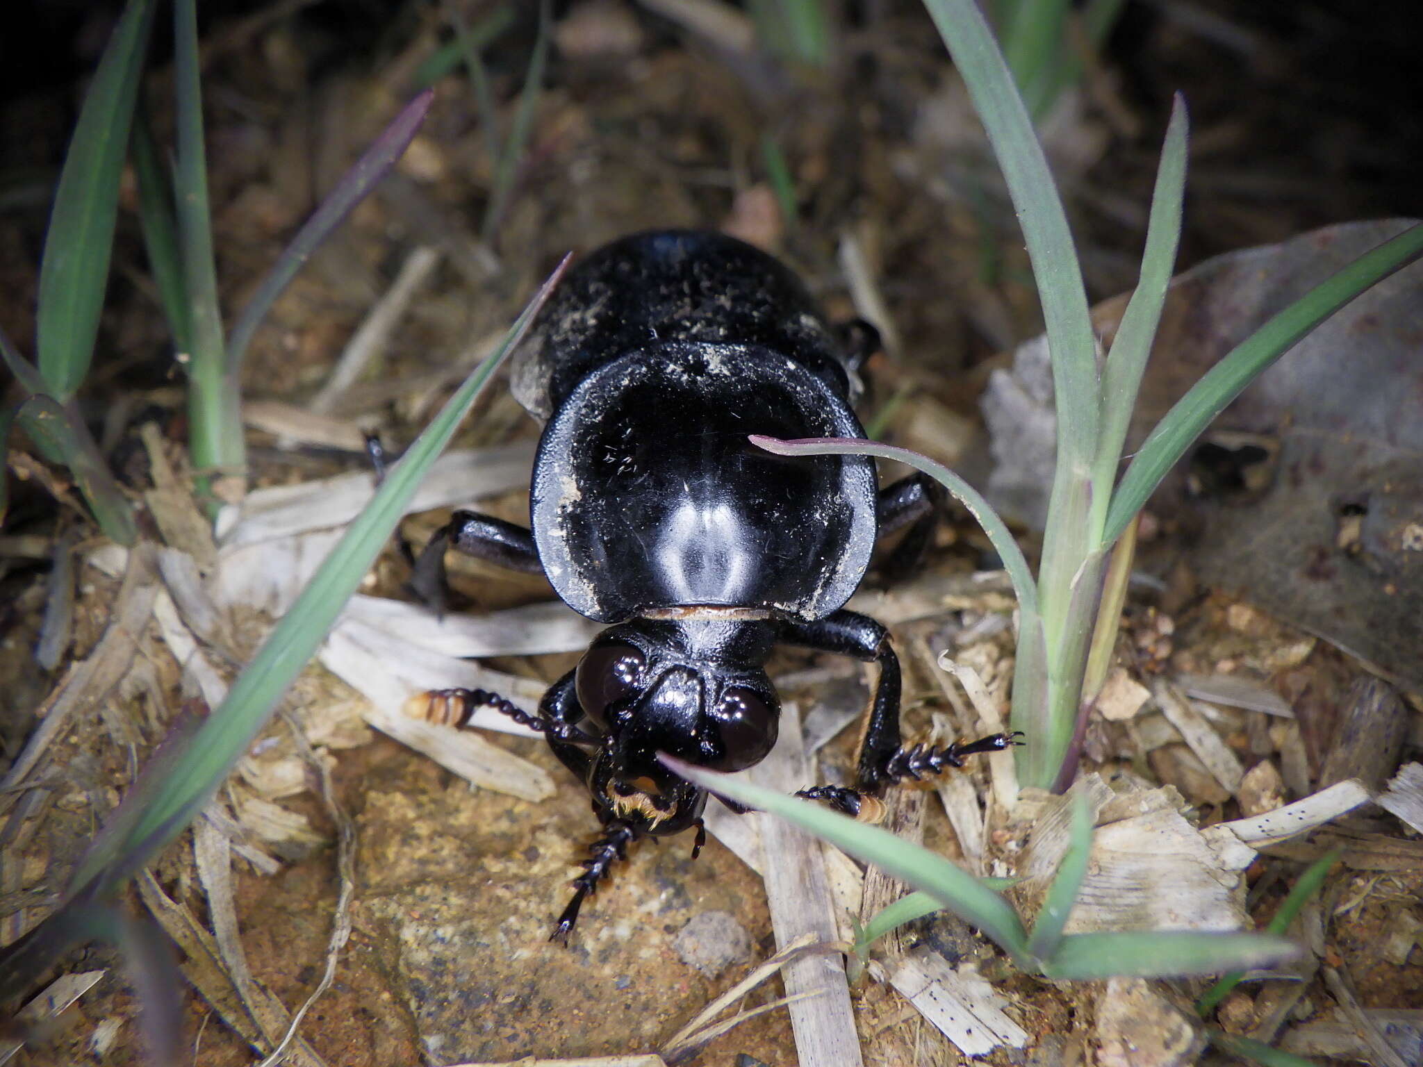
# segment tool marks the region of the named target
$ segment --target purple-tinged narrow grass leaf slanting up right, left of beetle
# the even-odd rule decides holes
[[[232,334],[228,337],[228,366],[232,374],[240,373],[242,360],[246,356],[248,346],[252,343],[252,336],[258,331],[262,320],[266,319],[268,312],[272,310],[272,304],[277,296],[296,277],[296,272],[310,259],[312,252],[330,236],[332,230],[342,225],[342,221],[350,215],[351,209],[366,199],[366,195],[386,176],[410,145],[416,131],[420,129],[420,124],[424,122],[425,112],[430,111],[433,101],[433,90],[425,90],[410,101],[396,117],[396,121],[386,127],[381,135],[371,142],[370,148],[361,154],[360,159],[342,175],[342,179],[336,182],[336,186],[316,208],[312,218],[292,238],[292,243],[277,256],[276,263],[268,276],[262,279],[262,285],[258,286],[252,300],[242,309],[236,324],[232,327]]]

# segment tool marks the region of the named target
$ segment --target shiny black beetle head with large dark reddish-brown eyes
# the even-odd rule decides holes
[[[578,703],[602,731],[589,770],[595,802],[640,814],[649,832],[676,832],[702,791],[657,763],[657,753],[716,771],[740,771],[776,744],[780,700],[761,664],[766,622],[638,620],[606,630],[578,664]],[[679,825],[680,824],[680,825]]]

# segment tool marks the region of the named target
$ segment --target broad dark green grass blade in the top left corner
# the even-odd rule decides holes
[[[36,316],[40,374],[60,401],[88,374],[108,286],[118,181],[128,151],[152,0],[129,0],[110,37],[64,156],[40,265]]]

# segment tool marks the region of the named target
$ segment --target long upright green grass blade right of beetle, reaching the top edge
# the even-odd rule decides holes
[[[1023,228],[1053,356],[1057,462],[1091,461],[1097,440],[1097,353],[1067,215],[1013,75],[973,0],[925,0],[973,98]]]

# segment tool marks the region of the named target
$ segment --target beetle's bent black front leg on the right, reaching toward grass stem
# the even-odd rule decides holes
[[[815,622],[785,623],[780,636],[790,644],[879,664],[879,680],[875,683],[855,774],[859,792],[875,794],[904,778],[922,778],[946,767],[962,767],[965,755],[1000,751],[1017,744],[1017,734],[990,734],[966,744],[952,741],[946,745],[918,744],[906,748],[899,738],[899,657],[889,644],[889,632],[867,615],[841,609]],[[815,792],[811,798],[825,800],[831,807],[850,814],[859,811],[851,798],[838,794]]]

